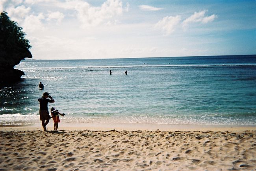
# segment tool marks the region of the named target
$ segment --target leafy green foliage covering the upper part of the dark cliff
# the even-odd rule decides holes
[[[4,11],[0,14],[0,49],[13,51],[15,47],[29,49],[32,46],[25,39],[26,33],[18,26],[17,22],[11,21]]]

